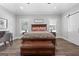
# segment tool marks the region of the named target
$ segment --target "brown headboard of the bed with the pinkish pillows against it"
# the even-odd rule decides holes
[[[32,31],[47,31],[47,24],[32,24]]]

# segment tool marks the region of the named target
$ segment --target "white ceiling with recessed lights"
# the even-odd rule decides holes
[[[62,14],[77,3],[0,3],[15,15]]]

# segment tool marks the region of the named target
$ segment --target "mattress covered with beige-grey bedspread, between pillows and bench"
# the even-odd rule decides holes
[[[28,32],[23,35],[22,38],[27,38],[27,39],[34,39],[34,38],[39,38],[39,39],[52,39],[55,38],[52,33],[49,33],[47,31],[34,31],[34,32]]]

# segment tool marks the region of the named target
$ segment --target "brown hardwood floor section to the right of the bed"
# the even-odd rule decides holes
[[[57,38],[56,43],[56,55],[79,56],[79,46],[61,38]]]

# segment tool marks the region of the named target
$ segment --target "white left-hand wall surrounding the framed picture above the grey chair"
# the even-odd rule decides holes
[[[13,33],[13,36],[15,38],[16,36],[16,16],[10,12],[8,12],[6,9],[0,6],[0,17],[5,18],[8,20],[8,28],[7,29],[0,29],[0,31],[10,31]]]

